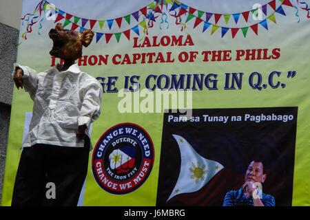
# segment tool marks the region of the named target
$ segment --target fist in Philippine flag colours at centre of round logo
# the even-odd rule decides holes
[[[116,169],[118,174],[127,173],[134,167],[135,151],[130,146],[122,146],[109,155],[110,167],[112,170]]]

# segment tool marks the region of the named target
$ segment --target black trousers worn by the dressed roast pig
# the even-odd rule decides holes
[[[77,206],[89,153],[88,137],[83,148],[48,144],[23,148],[12,206]]]

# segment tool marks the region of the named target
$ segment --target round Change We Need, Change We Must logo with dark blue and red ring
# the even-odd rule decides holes
[[[92,173],[101,188],[122,195],[139,188],[151,173],[154,146],[137,124],[123,123],[107,130],[92,154]]]

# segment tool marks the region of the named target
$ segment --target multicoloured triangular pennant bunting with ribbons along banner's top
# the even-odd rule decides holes
[[[267,20],[272,21],[273,23],[276,23],[276,17],[275,14],[282,14],[286,16],[285,11],[282,8],[282,5],[286,5],[289,7],[293,7],[290,0],[278,0],[280,1],[280,5],[278,8],[276,8],[276,0],[271,0],[269,3],[266,3],[265,5],[262,5],[260,10],[265,14],[266,18],[262,21],[259,21],[258,23],[254,23],[252,25],[242,27],[242,28],[231,28],[226,27],[223,25],[218,25],[218,22],[221,18],[224,18],[224,21],[226,25],[229,23],[229,20],[231,17],[234,19],[234,22],[236,25],[238,24],[238,21],[240,21],[240,17],[242,15],[245,23],[248,23],[249,21],[249,14],[252,13],[257,17],[258,14],[258,8],[254,10],[249,10],[245,12],[240,13],[234,13],[234,14],[218,14],[218,13],[211,13],[211,12],[203,12],[201,10],[197,10],[195,8],[192,8],[188,5],[185,5],[181,3],[178,0],[156,0],[152,3],[149,3],[149,5],[141,8],[140,10],[137,10],[136,12],[132,14],[127,14],[124,17],[118,17],[116,19],[107,19],[107,20],[96,20],[96,19],[85,19],[81,17],[74,16],[68,12],[64,12],[63,10],[60,10],[59,8],[53,8],[53,6],[48,1],[41,1],[37,7],[35,8],[34,12],[31,14],[25,14],[25,16],[21,19],[23,22],[28,22],[26,31],[23,32],[22,38],[24,40],[27,39],[26,34],[32,32],[32,25],[35,25],[39,22],[39,34],[40,30],[42,28],[42,21],[44,17],[41,19],[41,15],[43,12],[47,12],[48,10],[54,10],[54,13],[56,15],[56,19],[54,19],[54,23],[57,22],[63,22],[63,26],[67,27],[71,24],[71,30],[77,30],[79,29],[79,32],[83,32],[85,30],[85,26],[87,23],[90,27],[90,30],[96,34],[96,42],[98,43],[101,39],[103,39],[103,36],[105,36],[105,42],[109,43],[110,39],[112,39],[112,36],[114,35],[116,38],[116,41],[119,42],[121,39],[121,36],[124,35],[129,41],[131,32],[134,32],[134,34],[140,36],[141,33],[139,32],[139,27],[143,28],[143,33],[146,35],[148,34],[148,28],[152,28],[154,26],[154,23],[156,22],[156,19],[161,14],[161,23],[163,23],[163,16],[165,15],[167,17],[166,12],[164,12],[164,7],[166,7],[166,10],[169,11],[169,15],[174,17],[176,19],[176,25],[181,25],[181,30],[185,30],[187,28],[186,23],[192,19],[194,20],[194,29],[200,25],[200,23],[203,23],[203,32],[207,30],[209,27],[211,27],[211,34],[214,34],[218,29],[222,30],[222,38],[227,34],[229,30],[231,30],[231,36],[234,38],[239,30],[242,30],[243,36],[247,36],[247,32],[249,28],[253,30],[253,32],[258,35],[258,25],[261,25],[263,28],[268,30],[268,24]],[[171,7],[169,8],[168,6]],[[272,13],[267,16],[267,10],[268,8],[272,9]],[[270,9],[269,9],[270,10]],[[39,14],[38,14],[39,12]],[[174,14],[170,14],[174,13]],[[182,22],[182,20],[186,17],[185,23]],[[132,17],[134,18],[134,22],[132,21]],[[142,17],[142,19],[141,19]],[[214,23],[211,23],[211,18],[214,17]],[[40,20],[41,19],[41,20]],[[141,21],[142,20],[142,21]],[[102,32],[103,27],[105,24],[107,24],[109,30],[112,29],[112,25],[115,23],[117,24],[118,28],[122,28],[122,23],[126,22],[127,25],[134,24],[133,28],[129,28],[125,31],[116,32],[116,33],[104,33]],[[165,20],[167,23],[167,19]],[[23,23],[22,23],[23,24]],[[99,26],[101,32],[95,32],[95,25]]]

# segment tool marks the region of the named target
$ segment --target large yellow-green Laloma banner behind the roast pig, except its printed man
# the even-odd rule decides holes
[[[23,1],[17,63],[57,63],[48,32],[92,30],[103,86],[80,206],[222,206],[253,160],[276,206],[309,206],[310,1]],[[14,89],[2,205],[33,102]]]

